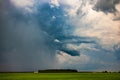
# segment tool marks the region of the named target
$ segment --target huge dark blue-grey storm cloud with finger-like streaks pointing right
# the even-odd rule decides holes
[[[54,68],[56,50],[79,56],[79,51],[65,45],[92,43],[86,38],[66,34],[70,25],[66,24],[68,17],[64,16],[62,6],[51,8],[49,3],[36,4],[35,13],[26,13],[9,0],[0,4],[0,71]]]

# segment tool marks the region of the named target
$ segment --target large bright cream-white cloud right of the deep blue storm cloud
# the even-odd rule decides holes
[[[114,21],[116,16],[112,13],[94,11],[93,6],[89,1],[79,2],[77,8],[67,10],[71,17],[70,23],[75,28],[74,35],[97,38],[103,48],[112,50],[114,45],[120,43],[120,21]],[[77,11],[79,14],[76,14]]]

